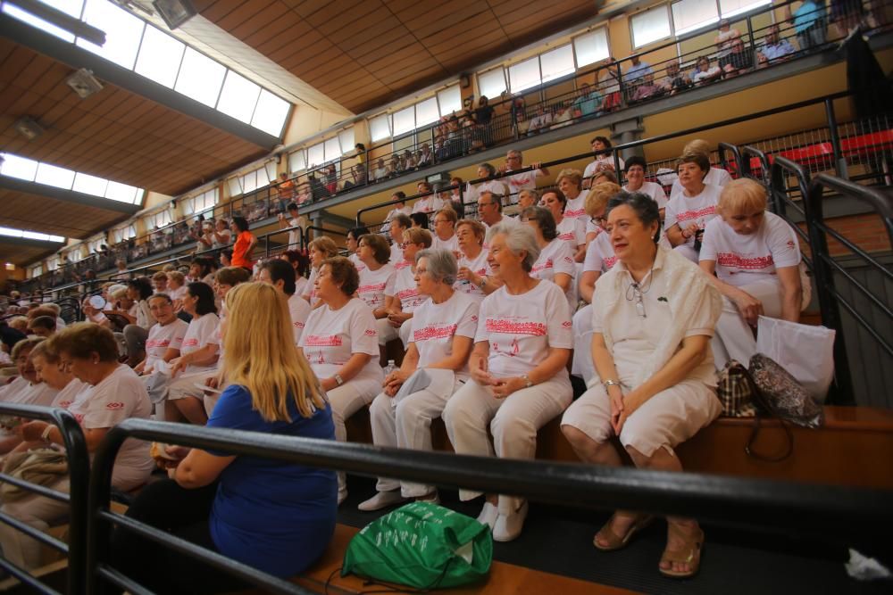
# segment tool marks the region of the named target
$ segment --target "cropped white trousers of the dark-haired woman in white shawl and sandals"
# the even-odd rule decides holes
[[[646,457],[663,447],[671,454],[680,442],[689,440],[722,413],[713,388],[698,380],[655,394],[627,418],[620,431],[623,448],[634,448]],[[613,434],[611,403],[605,387],[597,384],[564,412],[562,426],[573,426],[602,443]]]

